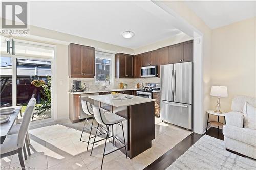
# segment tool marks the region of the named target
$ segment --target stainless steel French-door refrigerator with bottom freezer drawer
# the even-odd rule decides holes
[[[161,120],[193,129],[193,62],[161,65]]]

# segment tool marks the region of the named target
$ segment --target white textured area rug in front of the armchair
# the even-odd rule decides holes
[[[256,161],[228,152],[224,141],[204,135],[170,169],[256,169]]]

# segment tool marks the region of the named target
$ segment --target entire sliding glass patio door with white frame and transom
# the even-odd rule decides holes
[[[23,106],[17,119],[19,123],[29,100],[34,97],[37,102],[31,120],[54,118],[54,46],[15,40],[15,55],[11,55],[2,38],[1,107]]]

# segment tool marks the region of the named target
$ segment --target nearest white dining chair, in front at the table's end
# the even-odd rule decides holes
[[[20,166],[22,166],[22,169],[25,169],[22,151],[24,152],[24,157],[26,157],[27,154],[25,149],[25,139],[29,128],[30,119],[36,104],[35,98],[32,98],[31,100],[31,103],[27,105],[27,108],[25,110],[18,134],[8,135],[4,143],[0,145],[0,158],[11,156],[18,153],[18,158]]]

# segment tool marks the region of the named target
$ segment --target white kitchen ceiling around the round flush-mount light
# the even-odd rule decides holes
[[[182,34],[151,1],[31,1],[30,9],[31,25],[133,49]]]

